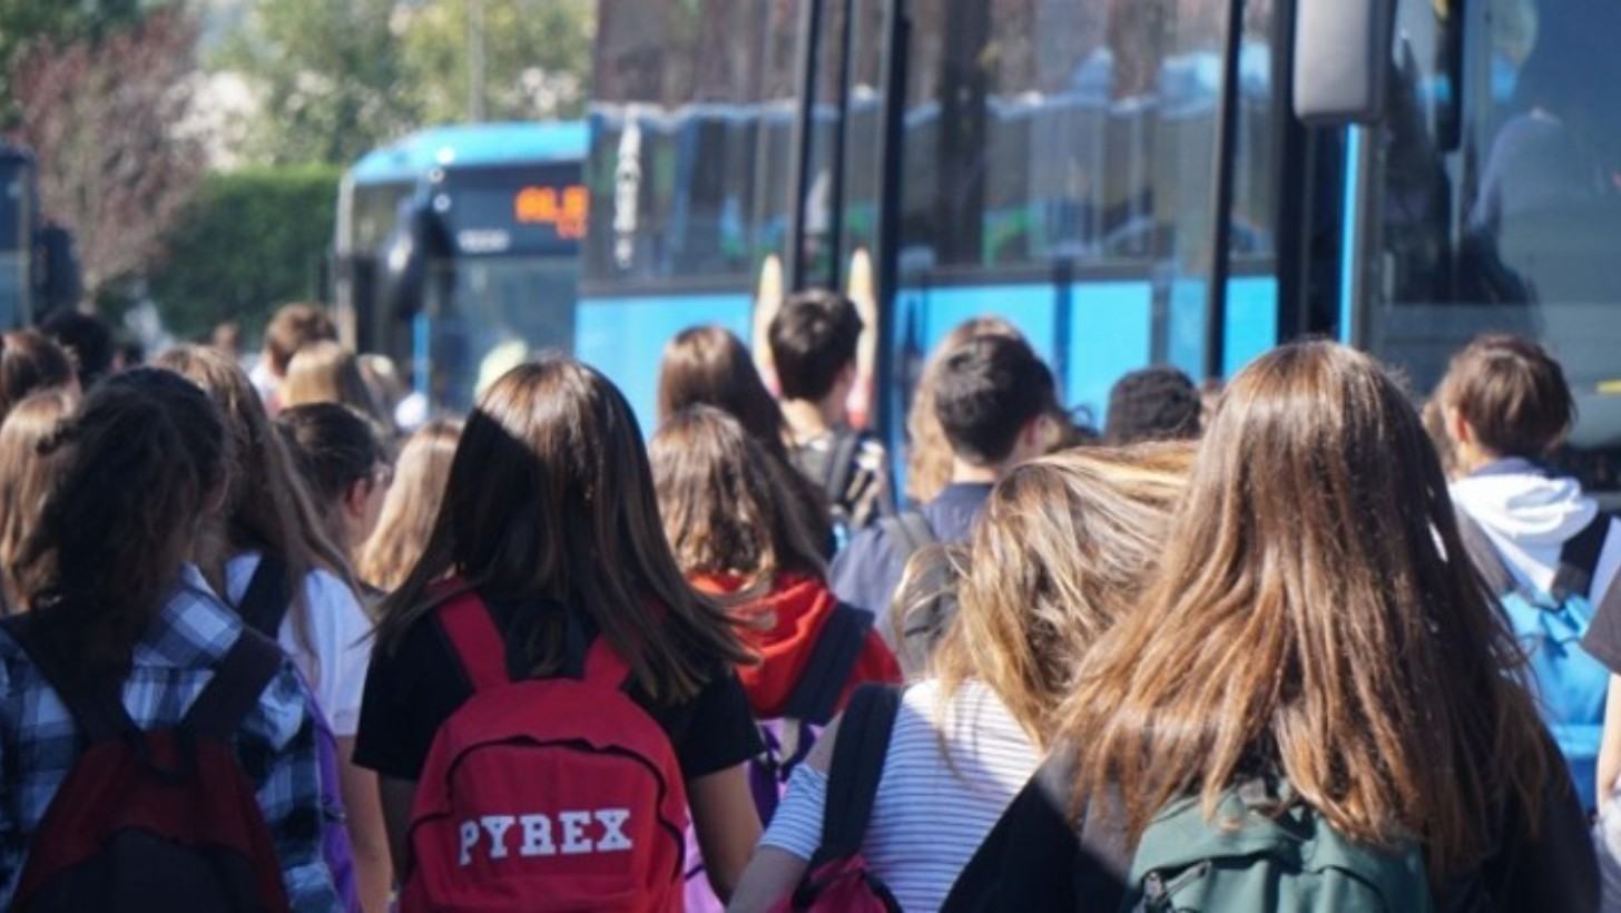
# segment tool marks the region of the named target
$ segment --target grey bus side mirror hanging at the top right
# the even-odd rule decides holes
[[[1375,123],[1384,114],[1394,0],[1298,0],[1295,115],[1313,125]]]

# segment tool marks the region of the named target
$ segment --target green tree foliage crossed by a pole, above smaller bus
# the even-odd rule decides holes
[[[439,0],[408,16],[402,63],[423,123],[468,120],[472,5],[483,3],[490,120],[579,117],[592,63],[592,0]]]

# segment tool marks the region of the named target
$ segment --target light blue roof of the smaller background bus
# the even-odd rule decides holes
[[[349,177],[357,183],[415,180],[436,165],[501,165],[584,159],[584,120],[457,123],[418,130],[366,152]]]

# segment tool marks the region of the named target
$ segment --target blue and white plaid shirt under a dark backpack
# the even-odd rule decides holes
[[[180,722],[242,631],[195,568],[136,644],[123,705],[141,728]],[[28,654],[0,632],[0,908],[10,907],[28,845],[79,744],[73,718]],[[342,905],[321,855],[321,782],[310,696],[292,663],[237,733],[237,757],[258,790],[293,910]]]

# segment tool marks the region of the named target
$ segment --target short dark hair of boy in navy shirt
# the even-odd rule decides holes
[[[1002,462],[1037,417],[1057,409],[1052,371],[1021,339],[979,336],[940,363],[934,412],[958,459]]]

